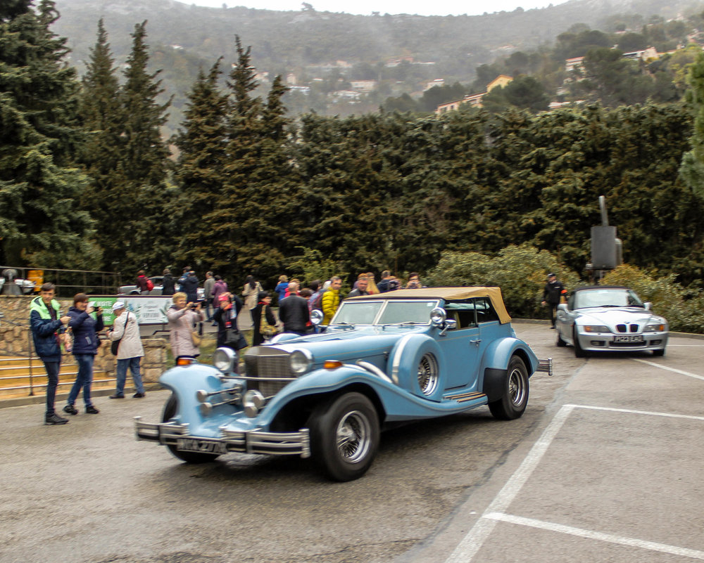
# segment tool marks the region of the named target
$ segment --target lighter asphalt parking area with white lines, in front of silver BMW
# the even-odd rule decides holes
[[[587,358],[535,439],[401,560],[704,559],[703,352],[673,338],[663,358]],[[555,349],[558,370],[571,354]]]

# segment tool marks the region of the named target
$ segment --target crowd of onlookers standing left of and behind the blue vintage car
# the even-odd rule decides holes
[[[137,287],[143,294],[149,294],[153,285],[148,283],[144,271],[139,271]],[[151,286],[151,287],[150,287]],[[333,276],[323,283],[315,280],[308,287],[301,287],[296,278],[289,280],[280,276],[275,287],[278,296],[279,318],[272,311],[272,295],[263,289],[261,283],[253,276],[245,280],[241,299],[227,290],[227,283],[213,272],[206,273],[203,283],[203,300],[198,296],[199,280],[190,266],[183,268],[178,279],[172,278],[170,270],[163,271],[162,295],[170,295],[172,304],[166,316],[170,329],[170,345],[173,356],[178,358],[197,357],[200,354],[200,338],[196,330],[198,323],[210,321],[218,327],[217,345],[231,347],[235,353],[248,345],[241,330],[253,330],[252,344],[258,345],[279,332],[277,325],[282,325],[284,332],[306,335],[315,330],[310,315],[318,309],[323,313],[323,324],[329,323],[343,297],[340,296],[342,280]],[[373,273],[358,276],[353,290],[347,297],[370,295],[399,289],[401,282],[389,271],[382,272],[379,284],[375,283]],[[422,287],[417,273],[409,276],[406,287]],[[176,289],[178,288],[178,291]],[[61,314],[60,304],[54,298],[56,287],[44,283],[39,297],[30,304],[30,327],[34,339],[34,349],[42,359],[48,377],[46,387],[46,425],[63,425],[67,418],[56,413],[56,389],[58,373],[61,368],[61,347],[75,357],[77,375],[68,399],[63,406],[63,413],[77,415],[75,406],[82,391],[85,413],[99,414],[91,399],[94,359],[101,345],[99,333],[105,330],[103,310],[89,302],[84,293],[73,298],[73,306],[65,315]],[[117,349],[116,387],[110,399],[125,398],[127,371],[132,373],[137,392],[133,395],[139,399],[145,396],[144,384],[140,373],[140,361],[144,356],[142,339],[139,335],[139,323],[125,303],[117,301],[112,306],[115,322],[107,331],[109,341],[119,342]]]

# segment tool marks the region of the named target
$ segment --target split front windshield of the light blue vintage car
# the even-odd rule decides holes
[[[331,325],[427,325],[438,300],[389,299],[388,301],[346,301],[340,305]]]

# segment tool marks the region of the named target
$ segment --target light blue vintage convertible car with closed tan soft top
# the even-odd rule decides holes
[[[337,481],[367,471],[382,428],[484,405],[519,418],[529,377],[552,373],[516,337],[498,287],[346,299],[325,332],[249,349],[244,374],[230,349],[213,363],[165,372],[173,392],[162,422],[137,418],[137,439],[191,463],[229,452],[313,456]]]

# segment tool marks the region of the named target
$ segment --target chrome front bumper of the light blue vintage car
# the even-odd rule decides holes
[[[222,428],[222,437],[203,438],[189,434],[189,425],[177,422],[151,424],[134,417],[134,433],[137,440],[155,441],[162,446],[178,447],[179,439],[222,444],[228,452],[263,453],[268,455],[300,455],[310,458],[308,428],[298,432],[262,432],[260,430],[230,430]]]

